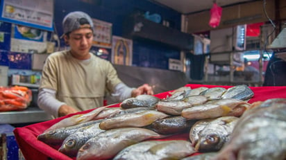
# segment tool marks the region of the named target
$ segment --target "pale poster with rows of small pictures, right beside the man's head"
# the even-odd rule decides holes
[[[112,24],[99,19],[92,19],[92,22],[94,24],[94,39],[92,45],[111,48]]]

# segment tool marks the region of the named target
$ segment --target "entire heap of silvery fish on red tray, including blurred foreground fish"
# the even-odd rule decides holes
[[[246,85],[141,95],[69,116],[37,140],[81,160],[285,159],[286,99],[248,103],[253,96]]]

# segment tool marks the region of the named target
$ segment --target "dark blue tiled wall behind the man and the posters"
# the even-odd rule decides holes
[[[112,23],[112,35],[120,37],[124,29],[124,19],[135,12],[158,13],[162,19],[171,19],[171,27],[180,30],[180,13],[148,0],[55,0],[54,26],[59,37],[62,35],[62,19],[68,12],[76,10],[87,12],[94,19]],[[9,66],[9,70],[31,71],[31,53],[10,52],[11,24],[0,21],[0,32],[4,33],[4,41],[0,42],[0,65]],[[51,38],[50,35],[51,33],[48,39]],[[60,39],[60,46],[65,48],[62,39]],[[11,57],[18,57],[18,60],[12,60]],[[180,51],[157,42],[133,39],[133,66],[168,69],[169,58],[180,60]]]

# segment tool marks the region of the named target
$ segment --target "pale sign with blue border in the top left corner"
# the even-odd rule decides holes
[[[53,0],[2,0],[0,21],[53,31]]]

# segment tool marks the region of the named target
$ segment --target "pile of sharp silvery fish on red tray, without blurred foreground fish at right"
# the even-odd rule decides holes
[[[122,101],[119,107],[99,107],[65,118],[37,139],[76,159],[184,159],[195,152],[217,154],[231,141],[240,117],[257,108],[247,103],[253,96],[246,85],[181,87],[166,98],[141,95]],[[182,133],[189,133],[189,141],[164,139]]]

